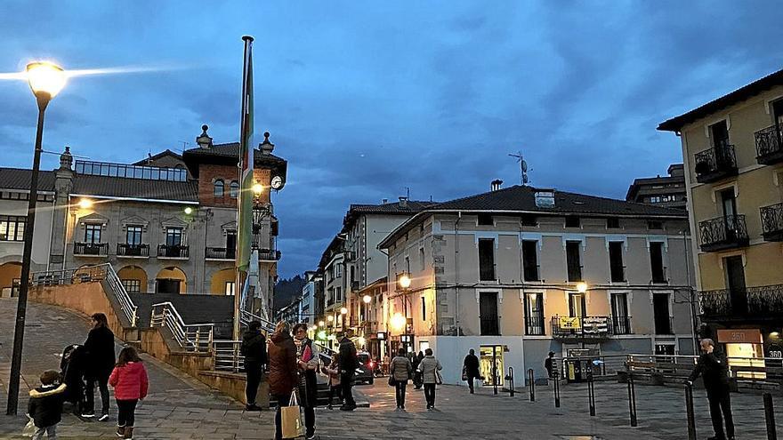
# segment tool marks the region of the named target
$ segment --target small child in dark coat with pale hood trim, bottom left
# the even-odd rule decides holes
[[[28,415],[36,425],[33,440],[57,438],[57,424],[62,418],[62,402],[65,399],[65,384],[57,385],[60,373],[47,370],[41,374],[41,386],[30,390]]]

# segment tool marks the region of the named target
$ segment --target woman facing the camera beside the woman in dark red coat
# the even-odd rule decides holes
[[[304,438],[315,438],[315,407],[318,398],[316,372],[320,366],[318,347],[307,337],[307,324],[294,326],[297,365],[299,366],[299,405],[304,412]]]

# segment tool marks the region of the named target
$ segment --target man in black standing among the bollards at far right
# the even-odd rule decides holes
[[[734,420],[731,417],[731,396],[729,394],[729,364],[720,351],[715,351],[713,340],[701,340],[701,356],[688,383],[693,385],[699,375],[704,377],[706,398],[709,400],[710,417],[713,420],[715,436],[708,440],[734,440]],[[721,417],[722,412],[722,417]],[[726,422],[726,432],[723,433],[723,421]],[[727,437],[728,436],[728,437]]]

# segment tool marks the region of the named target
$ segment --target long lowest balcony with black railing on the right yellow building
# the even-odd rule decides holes
[[[783,284],[698,292],[701,316],[715,321],[783,318]]]

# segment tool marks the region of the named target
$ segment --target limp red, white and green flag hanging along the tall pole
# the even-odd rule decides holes
[[[253,37],[245,40],[245,66],[242,73],[242,120],[239,134],[239,199],[237,268],[250,264],[253,236]],[[239,288],[239,284],[237,284]]]

